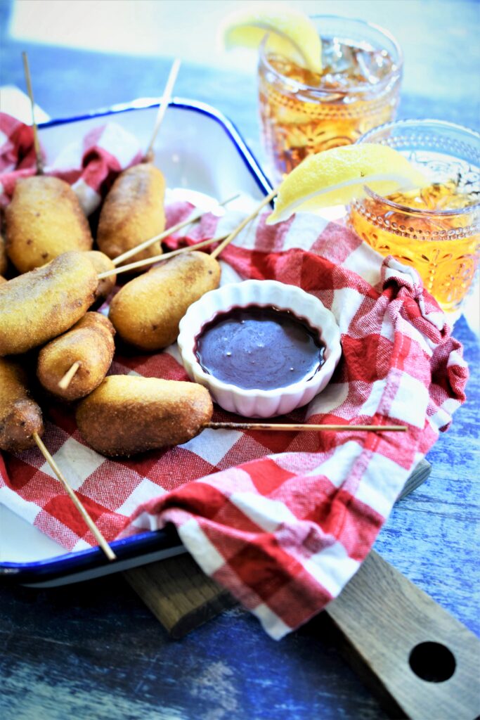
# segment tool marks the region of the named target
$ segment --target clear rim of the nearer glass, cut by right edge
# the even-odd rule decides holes
[[[449,122],[448,120],[433,120],[431,118],[419,118],[416,120],[415,118],[407,118],[405,120],[391,120],[391,122],[384,122],[383,125],[373,127],[371,130],[368,130],[368,132],[366,132],[364,135],[361,135],[361,138],[358,138],[358,140],[356,140],[355,145],[360,145],[361,143],[368,143],[368,141],[370,140],[369,136],[374,135],[376,132],[379,132],[381,130],[388,130],[391,127],[412,127],[412,125],[420,125],[425,127],[425,125],[427,125],[428,123],[430,123],[430,125],[439,125],[440,127],[445,128],[445,130],[452,129],[466,132],[468,135],[476,138],[476,140],[478,140],[480,143],[480,132],[472,130],[471,127],[465,127],[465,125],[458,125],[456,122]],[[393,210],[397,210],[399,212],[408,212],[409,215],[417,215],[418,217],[422,217],[425,215],[433,215],[434,217],[452,217],[453,215],[466,215],[468,212],[480,209],[480,199],[478,202],[474,202],[471,205],[467,205],[466,207],[458,208],[457,210],[429,210],[422,207],[408,207],[408,205],[403,205],[399,202],[394,202],[393,200],[390,200],[386,197],[382,197],[366,185],[363,186],[363,189],[365,190],[368,197],[371,197],[371,199],[382,202],[393,208]]]

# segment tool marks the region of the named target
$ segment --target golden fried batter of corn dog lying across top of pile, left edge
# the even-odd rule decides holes
[[[24,353],[65,333],[85,315],[98,279],[86,253],[51,263],[0,285],[0,356]]]

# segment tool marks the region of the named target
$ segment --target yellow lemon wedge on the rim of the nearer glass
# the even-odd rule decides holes
[[[310,155],[279,185],[268,225],[287,220],[294,212],[317,212],[365,197],[368,186],[381,196],[425,187],[429,181],[397,150],[388,145],[343,145]]]

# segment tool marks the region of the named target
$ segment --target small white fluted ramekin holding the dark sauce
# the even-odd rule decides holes
[[[194,351],[201,328],[219,312],[248,305],[290,310],[298,318],[307,320],[318,330],[325,344],[325,362],[320,369],[309,379],[275,390],[245,390],[205,372]],[[246,418],[271,418],[307,405],[329,382],[342,354],[340,329],[332,312],[314,295],[276,280],[245,280],[204,294],[181,319],[178,347],[189,377],[207,387],[214,401],[224,410]]]

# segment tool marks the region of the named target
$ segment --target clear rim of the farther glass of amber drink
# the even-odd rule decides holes
[[[359,25],[363,25],[364,27],[370,27],[371,30],[375,30],[376,32],[379,32],[380,35],[383,35],[384,37],[386,37],[386,39],[389,40],[392,43],[392,45],[394,45],[394,48],[398,55],[398,60],[397,60],[397,62],[394,63],[394,66],[392,67],[391,72],[386,76],[386,78],[384,78],[382,81],[380,81],[378,85],[362,84],[362,85],[358,85],[358,86],[353,86],[353,89],[335,90],[334,91],[331,88],[326,89],[325,86],[323,86],[322,84],[314,86],[314,85],[309,85],[307,83],[302,83],[297,80],[293,81],[293,80],[291,80],[291,78],[287,77],[283,73],[279,72],[276,68],[274,68],[271,65],[271,63],[268,62],[268,58],[267,58],[267,55],[265,52],[266,42],[268,42],[268,37],[270,37],[270,35],[271,35],[270,32],[267,32],[265,37],[263,37],[263,40],[260,44],[259,57],[260,57],[261,62],[268,68],[268,70],[271,71],[271,73],[273,73],[276,76],[276,78],[279,78],[284,84],[286,84],[286,85],[291,84],[291,85],[295,86],[295,89],[310,91],[310,92],[314,92],[314,93],[317,93],[320,95],[331,95],[332,93],[335,93],[335,95],[346,96],[346,95],[352,94],[353,92],[355,92],[356,94],[361,94],[361,93],[363,94],[363,93],[371,92],[372,90],[374,90],[375,92],[381,91],[386,86],[388,86],[389,82],[391,82],[392,76],[394,76],[395,74],[397,74],[398,76],[401,76],[403,63],[404,63],[403,51],[399,45],[399,42],[394,37],[394,35],[392,35],[391,32],[389,32],[389,30],[385,30],[384,27],[381,27],[380,25],[377,25],[374,22],[367,22],[366,20],[361,20],[360,18],[357,18],[357,17],[343,17],[342,15],[310,15],[309,17],[312,20],[320,20],[320,19],[343,20],[345,23],[352,22],[352,23],[356,23]],[[320,33],[319,33],[319,35],[320,35]]]

